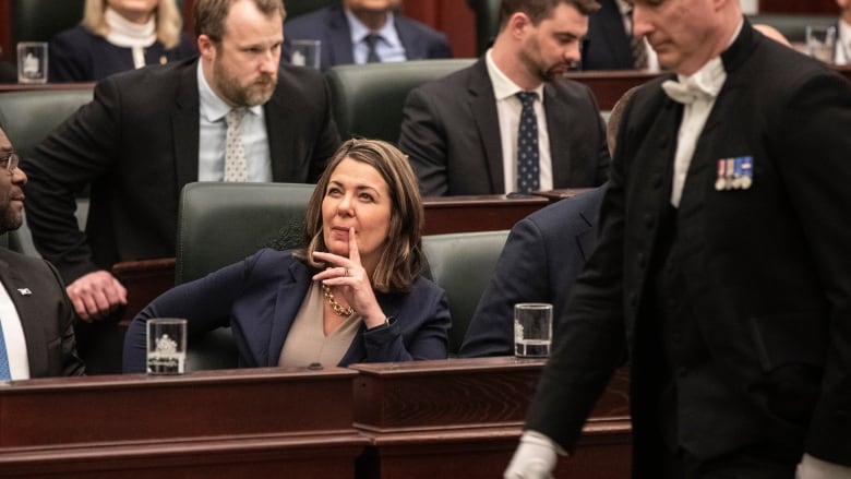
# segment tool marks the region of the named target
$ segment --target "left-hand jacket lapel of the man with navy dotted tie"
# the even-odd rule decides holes
[[[500,120],[493,96],[493,85],[488,76],[488,65],[484,63],[484,58],[474,65],[468,91],[470,93],[470,112],[476,128],[479,130],[479,139],[484,151],[484,170],[488,173],[491,190],[505,191]],[[510,161],[511,158],[505,160]]]

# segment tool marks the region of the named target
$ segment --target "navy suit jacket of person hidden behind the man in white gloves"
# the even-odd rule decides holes
[[[514,225],[458,356],[514,355],[515,303],[549,302],[553,320],[562,318],[571,288],[597,246],[604,193],[606,187],[579,193]]]

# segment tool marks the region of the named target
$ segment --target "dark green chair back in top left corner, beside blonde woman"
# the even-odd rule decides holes
[[[12,46],[19,41],[48,41],[83,20],[85,0],[12,0]]]

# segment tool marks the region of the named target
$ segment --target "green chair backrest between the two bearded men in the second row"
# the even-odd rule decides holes
[[[474,61],[442,59],[332,67],[327,79],[340,135],[344,139],[358,135],[396,143],[408,92],[469,67]]]

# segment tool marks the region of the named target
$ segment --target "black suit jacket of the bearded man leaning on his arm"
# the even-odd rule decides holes
[[[196,67],[185,60],[99,82],[94,100],[25,158],[33,239],[67,283],[119,261],[175,255],[180,190],[199,175]],[[339,144],[322,75],[281,67],[263,108],[273,180],[315,182]],[[83,233],[74,194],[89,183]]]

